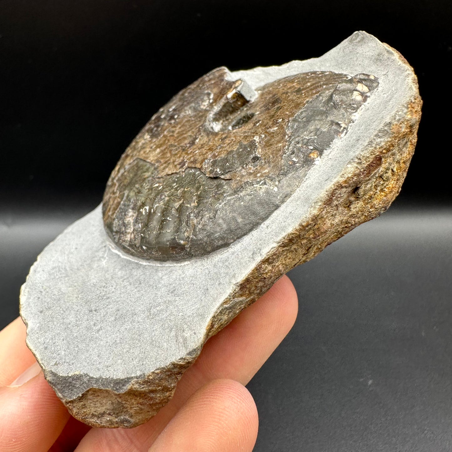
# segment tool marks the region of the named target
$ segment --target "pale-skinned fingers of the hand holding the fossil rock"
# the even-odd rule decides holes
[[[2,452],[252,451],[258,413],[245,388],[297,317],[287,276],[207,341],[173,399],[136,428],[89,428],[72,418],[25,345],[20,318],[0,331]]]

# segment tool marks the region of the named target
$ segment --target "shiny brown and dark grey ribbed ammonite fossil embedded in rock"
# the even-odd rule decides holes
[[[144,259],[230,245],[300,186],[378,85],[373,75],[307,72],[251,89],[218,68],[151,118],[108,180],[108,235]]]

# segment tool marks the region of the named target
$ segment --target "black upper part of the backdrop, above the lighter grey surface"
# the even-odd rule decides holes
[[[363,29],[419,77],[424,117],[403,195],[449,198],[450,167],[438,163],[448,154],[451,19],[449,0],[3,0],[1,192],[100,199],[139,129],[199,76],[320,56]]]

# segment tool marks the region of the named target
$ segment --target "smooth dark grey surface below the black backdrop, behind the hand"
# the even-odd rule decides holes
[[[38,252],[90,207],[0,212],[1,327]],[[248,385],[255,450],[450,451],[451,275],[452,208],[399,205],[294,269],[296,325]]]

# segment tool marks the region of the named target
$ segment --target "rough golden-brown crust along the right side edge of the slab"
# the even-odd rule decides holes
[[[421,107],[422,100],[417,95],[407,106],[405,117],[388,124],[391,133],[387,140],[374,143],[374,147],[364,151],[351,165],[353,171],[345,170],[322,200],[311,208],[308,219],[286,235],[237,284],[213,316],[207,328],[208,337],[224,328],[289,270],[387,210],[400,192],[414,153]],[[382,132],[385,135],[384,130]]]

